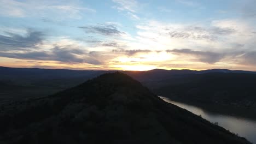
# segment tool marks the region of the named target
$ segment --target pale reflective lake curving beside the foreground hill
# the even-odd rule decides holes
[[[167,101],[168,103],[177,105],[193,112],[196,115],[201,115],[203,118],[207,119],[212,123],[218,123],[221,127],[230,130],[238,134],[239,136],[246,137],[247,140],[256,144],[256,121],[252,119],[220,115],[218,113],[212,113],[201,109],[200,107],[179,103],[172,101],[165,97],[160,97],[161,99]]]

